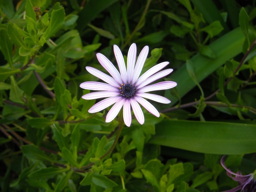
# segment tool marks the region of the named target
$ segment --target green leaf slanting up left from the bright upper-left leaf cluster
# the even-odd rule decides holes
[[[18,47],[23,47],[23,49],[27,49],[27,46],[22,38],[22,34],[18,31],[18,29],[11,23],[7,25],[7,33],[9,35],[10,40]]]

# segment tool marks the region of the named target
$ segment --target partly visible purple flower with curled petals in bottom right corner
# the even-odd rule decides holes
[[[222,192],[236,192],[238,190],[240,190],[240,192],[256,192],[255,173],[251,173],[248,175],[242,175],[239,171],[237,173],[234,173],[226,167],[224,161],[225,155],[221,158],[220,163],[222,167],[226,169],[227,175],[231,177],[234,181],[237,181],[239,185],[233,189]],[[234,175],[235,177],[233,177],[232,175]]]

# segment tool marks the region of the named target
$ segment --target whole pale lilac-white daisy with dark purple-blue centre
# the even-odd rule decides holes
[[[98,90],[97,92],[83,95],[83,99],[106,98],[92,106],[88,110],[89,113],[102,111],[103,109],[115,103],[107,113],[106,122],[111,122],[123,107],[124,123],[128,127],[130,127],[132,122],[131,106],[133,113],[140,124],[144,123],[144,115],[139,104],[141,104],[141,106],[143,106],[151,114],[157,117],[160,116],[157,109],[144,98],[160,103],[170,103],[170,100],[165,97],[146,92],[166,90],[175,87],[177,83],[173,81],[163,81],[149,85],[153,81],[169,75],[173,69],[165,69],[161,72],[158,72],[169,64],[169,62],[162,62],[153,66],[151,69],[140,76],[141,70],[149,52],[149,47],[145,46],[142,49],[137,61],[136,52],[136,44],[133,43],[128,51],[126,68],[122,52],[117,45],[114,45],[115,59],[117,61],[120,73],[111,63],[111,61],[107,59],[107,57],[101,53],[96,54],[99,63],[112,77],[93,67],[86,67],[86,70],[89,73],[106,82],[102,83],[87,81],[80,84],[80,87],[83,89]]]

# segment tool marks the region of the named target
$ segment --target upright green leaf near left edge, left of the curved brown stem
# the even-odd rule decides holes
[[[10,76],[10,79],[11,79],[10,100],[17,103],[24,103],[23,101],[24,91],[19,88],[13,76]]]

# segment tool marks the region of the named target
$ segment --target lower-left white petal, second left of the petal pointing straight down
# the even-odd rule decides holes
[[[123,96],[115,96],[115,97],[110,97],[110,98],[103,99],[102,101],[100,101],[100,102],[96,103],[94,106],[92,106],[88,110],[88,112],[89,113],[99,112],[99,111],[107,108],[108,106],[111,106],[115,102],[118,102],[121,98],[124,98],[124,97]]]

